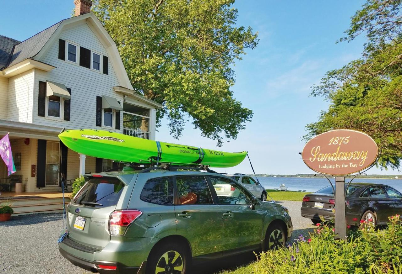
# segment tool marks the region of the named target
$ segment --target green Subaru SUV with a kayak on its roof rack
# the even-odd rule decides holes
[[[191,264],[283,246],[287,209],[212,170],[104,172],[67,206],[67,260],[100,273],[189,273]],[[219,188],[230,186],[231,195]]]

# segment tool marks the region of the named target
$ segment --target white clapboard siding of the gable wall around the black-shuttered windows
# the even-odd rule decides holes
[[[72,28],[68,28],[61,32],[59,39],[71,41],[87,49],[91,49],[96,53],[108,56],[105,47],[100,43],[90,27],[84,23]],[[123,102],[123,95],[113,90],[118,86],[115,71],[110,63],[109,58],[109,74],[103,74],[98,71],[87,69],[76,65],[69,61],[58,59],[59,39],[50,47],[49,51],[41,59],[42,62],[53,65],[56,68],[49,71],[36,70],[35,74],[35,95],[33,100],[34,124],[42,124],[48,126],[65,127],[67,129],[94,128],[96,126],[96,96],[108,95],[115,97],[118,101]],[[79,54],[77,54],[78,56]],[[38,92],[39,81],[54,81],[62,83],[71,89],[71,110],[70,121],[53,120],[46,117],[37,116],[38,108]],[[123,114],[120,113],[121,120]],[[115,130],[116,132],[122,132]]]

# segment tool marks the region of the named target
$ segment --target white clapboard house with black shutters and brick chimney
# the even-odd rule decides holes
[[[0,162],[0,193],[60,190],[66,180],[112,167],[111,160],[78,154],[59,142],[66,129],[103,129],[155,138],[162,106],[133,90],[117,47],[90,0],[76,16],[25,41],[0,35],[0,138],[10,132],[16,173]],[[60,158],[62,163],[60,164]]]

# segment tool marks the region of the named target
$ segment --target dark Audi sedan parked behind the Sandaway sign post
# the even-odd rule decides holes
[[[346,191],[346,222],[355,225],[360,220],[374,225],[384,225],[388,216],[402,216],[402,194],[388,185],[351,183]],[[307,194],[301,205],[301,216],[313,223],[320,222],[320,216],[327,221],[334,220],[335,198],[331,186]],[[401,217],[402,218],[402,217]]]

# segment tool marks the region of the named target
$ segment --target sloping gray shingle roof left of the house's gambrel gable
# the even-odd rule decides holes
[[[21,61],[24,61],[25,59],[29,59],[37,55],[46,44],[46,42],[53,35],[53,33],[56,31],[57,27],[61,24],[62,21],[54,24],[53,26],[50,26],[49,28],[46,28],[45,30],[42,30],[41,32],[35,34],[33,37],[28,38],[21,43],[14,39],[11,39],[12,41],[16,42],[13,45],[14,50],[12,51],[11,57],[11,51],[8,54],[3,54],[0,35],[0,69],[5,69],[7,67],[13,66],[20,63]],[[6,59],[5,63],[2,62],[3,59]]]

